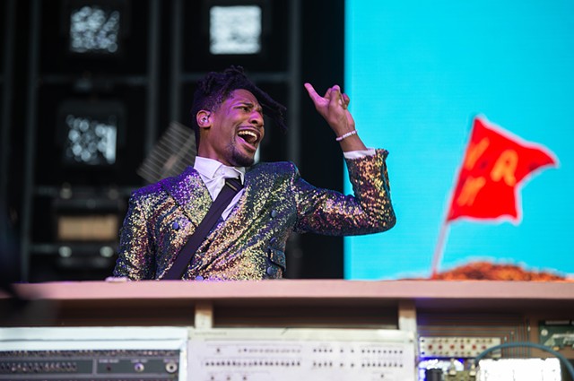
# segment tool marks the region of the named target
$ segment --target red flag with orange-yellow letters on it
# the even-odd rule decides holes
[[[466,217],[519,222],[519,186],[535,169],[549,165],[556,166],[557,160],[544,146],[474,118],[447,221]]]

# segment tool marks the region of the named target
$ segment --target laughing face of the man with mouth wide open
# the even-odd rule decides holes
[[[209,113],[202,128],[200,156],[231,167],[253,165],[255,152],[265,135],[263,110],[247,90],[232,91],[219,108]]]

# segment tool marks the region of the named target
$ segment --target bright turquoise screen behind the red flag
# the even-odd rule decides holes
[[[519,223],[449,223],[439,272],[487,261],[574,277],[574,2],[347,0],[344,81],[361,138],[389,152],[397,216],[344,239],[346,279],[431,275],[476,116],[559,166],[519,187]]]

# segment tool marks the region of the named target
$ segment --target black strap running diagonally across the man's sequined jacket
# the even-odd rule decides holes
[[[222,216],[222,212],[242,187],[239,178],[227,178],[225,180],[225,186],[223,186],[222,191],[217,195],[215,201],[213,201],[204,219],[197,225],[194,234],[187,239],[186,245],[181,248],[174,264],[170,267],[170,270],[163,275],[162,280],[181,279],[187,270],[191,257],[196,254],[197,248],[199,248],[207,234],[213,228],[213,225],[215,225],[215,222]]]

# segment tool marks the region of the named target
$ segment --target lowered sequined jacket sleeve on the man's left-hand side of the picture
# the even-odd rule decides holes
[[[141,194],[135,193],[130,197],[126,218],[120,229],[114,276],[133,281],[154,279],[152,232],[144,203]]]

